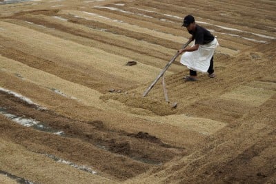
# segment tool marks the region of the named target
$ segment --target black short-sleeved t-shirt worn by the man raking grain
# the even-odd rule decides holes
[[[195,32],[189,31],[190,34],[193,35],[193,40],[195,39],[195,45],[204,45],[207,43],[210,43],[215,39],[213,34],[210,33],[210,31],[206,30],[206,28],[203,28],[199,25],[196,25]]]

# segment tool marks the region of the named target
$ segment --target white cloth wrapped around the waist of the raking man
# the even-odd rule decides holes
[[[195,42],[193,45],[195,45]],[[212,59],[218,45],[219,43],[216,38],[208,44],[199,45],[198,50],[182,54],[180,63],[186,65],[190,70],[207,72],[210,66],[210,60]]]

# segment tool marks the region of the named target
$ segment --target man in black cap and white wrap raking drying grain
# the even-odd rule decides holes
[[[195,40],[195,43],[190,48],[179,50],[181,56],[180,63],[186,65],[190,69],[190,75],[185,76],[186,81],[197,81],[197,72],[208,72],[210,78],[215,78],[213,69],[213,55],[215,49],[219,45],[217,39],[205,28],[195,23],[195,18],[192,15],[187,15],[184,18],[184,27],[193,36],[190,41]]]

